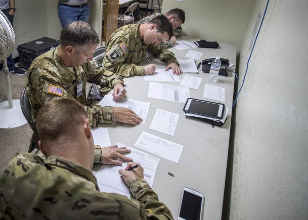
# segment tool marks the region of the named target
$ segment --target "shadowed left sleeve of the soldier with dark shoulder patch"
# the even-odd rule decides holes
[[[149,46],[149,52],[162,62],[167,63],[167,65],[170,63],[176,63],[179,65],[177,58],[174,57],[174,54],[171,51],[165,48],[163,43],[159,43],[157,46]]]

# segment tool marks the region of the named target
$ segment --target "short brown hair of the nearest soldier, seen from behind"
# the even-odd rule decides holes
[[[38,137],[42,142],[57,141],[62,136],[71,140],[78,135],[85,118],[85,110],[76,100],[54,99],[38,111],[35,121]]]

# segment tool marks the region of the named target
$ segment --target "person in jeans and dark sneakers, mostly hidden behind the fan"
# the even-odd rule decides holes
[[[11,25],[13,26],[13,18],[15,12],[15,0],[1,0],[0,1],[0,10],[7,16]],[[15,73],[16,75],[24,75],[27,72],[16,67],[14,63],[14,59],[12,58],[12,54],[7,58],[8,68],[11,73]],[[2,69],[3,64],[0,64],[0,69]]]

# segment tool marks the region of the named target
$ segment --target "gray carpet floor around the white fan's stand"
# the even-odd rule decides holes
[[[13,99],[20,99],[20,94],[26,84],[26,75],[10,74]],[[7,101],[6,80],[0,70],[0,102]],[[17,152],[27,152],[29,148],[32,130],[28,124],[20,127],[3,129],[0,128],[0,173],[5,170],[6,165]]]

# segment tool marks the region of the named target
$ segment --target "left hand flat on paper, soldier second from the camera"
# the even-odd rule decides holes
[[[143,121],[134,111],[122,107],[113,107],[113,118],[117,121],[134,125]]]

